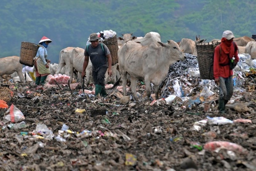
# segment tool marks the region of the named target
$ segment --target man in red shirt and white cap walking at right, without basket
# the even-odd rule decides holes
[[[219,85],[219,113],[225,113],[225,105],[233,95],[233,70],[230,69],[229,61],[235,58],[239,61],[237,45],[233,42],[234,34],[226,30],[222,34],[221,44],[214,50],[213,75],[214,81]]]

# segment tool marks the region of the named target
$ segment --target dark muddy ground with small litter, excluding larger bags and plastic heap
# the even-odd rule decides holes
[[[217,99],[205,113],[200,105],[189,109],[181,102],[153,106],[133,101],[120,104],[120,99],[114,95],[105,101],[90,97],[90,102],[79,96],[79,89],[71,92],[68,86],[62,87],[61,93],[59,87],[36,89],[29,83],[15,86],[10,86],[14,97],[7,104],[10,107],[13,103],[24,114],[27,127],[3,129],[1,126],[0,170],[217,171],[256,168],[254,90],[239,93],[242,98],[237,101],[251,102],[248,109],[238,112],[229,108],[224,116],[230,120],[250,119],[252,123],[205,125],[196,131],[192,130],[194,122],[206,116],[220,116]],[[139,92],[144,90],[139,89]],[[80,113],[76,109],[85,111]],[[6,110],[0,109],[0,120]],[[47,125],[53,136],[68,136],[66,142],[33,135],[39,123]],[[10,122],[5,123],[8,124]],[[59,133],[63,124],[73,132]],[[91,132],[82,134],[83,130]],[[214,131],[216,136],[202,135],[209,131]],[[28,135],[21,135],[21,132]],[[233,142],[242,145],[247,152],[200,151],[191,146],[193,142],[204,146],[210,141]],[[130,159],[127,158],[129,154]]]

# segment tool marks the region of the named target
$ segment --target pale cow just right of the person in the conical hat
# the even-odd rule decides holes
[[[64,66],[66,66],[65,73],[69,75],[70,59],[72,58],[72,50],[74,47],[67,47],[60,51],[59,66],[57,67],[56,73],[59,74]]]

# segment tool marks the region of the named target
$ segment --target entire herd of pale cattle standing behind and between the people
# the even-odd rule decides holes
[[[180,42],[168,40],[167,43],[161,42],[161,37],[156,32],[149,32],[144,37],[132,36],[132,34],[122,34],[118,37],[118,63],[112,66],[113,76],[108,77],[106,72],[105,82],[111,79],[113,82],[117,78],[122,78],[123,92],[126,94],[127,74],[131,80],[131,91],[136,99],[136,81],[143,79],[146,85],[147,96],[151,94],[150,83],[155,85],[156,98],[158,99],[159,85],[166,78],[169,66],[179,60],[184,60],[184,53],[197,56],[196,44],[206,43],[196,36],[193,41],[188,38],[181,39]],[[217,42],[219,39],[210,41]],[[239,54],[247,53],[252,58],[256,58],[256,41],[253,38],[244,36],[234,38],[239,50]],[[208,42],[207,42],[208,43]],[[81,79],[82,67],[84,62],[84,49],[79,47],[67,47],[60,51],[59,64],[51,64],[51,74],[66,74],[73,79],[73,73]],[[17,72],[20,81],[24,81],[22,64],[19,63],[18,56],[0,58],[0,76],[3,74],[13,74]],[[86,69],[87,85],[92,80],[92,63],[89,61]],[[2,79],[2,78],[1,78]]]

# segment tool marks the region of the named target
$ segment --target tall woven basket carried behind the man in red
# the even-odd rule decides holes
[[[196,45],[197,60],[201,79],[214,80],[213,77],[213,53],[221,42],[199,43]]]

